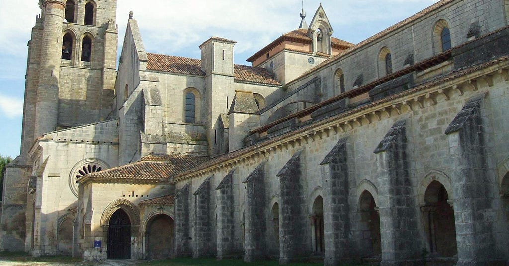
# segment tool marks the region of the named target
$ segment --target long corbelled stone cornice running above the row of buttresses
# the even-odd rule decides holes
[[[488,87],[493,86],[493,75],[497,73],[502,75],[504,81],[509,81],[509,57],[504,56],[485,64],[451,73],[397,95],[290,131],[268,143],[261,143],[260,147],[253,149],[247,147],[245,152],[240,150],[238,155],[232,155],[232,158],[227,157],[214,165],[194,172],[184,172],[176,176],[174,180],[176,183],[187,182],[195,177],[211,175],[218,168],[234,168],[251,159],[259,161],[273,151],[293,149],[308,142],[327,138],[330,135],[345,134],[355,127],[371,124],[393,115],[423,109],[427,105],[436,105],[438,102],[450,100],[451,97],[462,97],[466,91],[478,91],[478,84],[481,80]]]

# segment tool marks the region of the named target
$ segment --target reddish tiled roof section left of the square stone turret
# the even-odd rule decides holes
[[[147,53],[147,69],[203,76],[202,61],[199,59],[166,56]]]

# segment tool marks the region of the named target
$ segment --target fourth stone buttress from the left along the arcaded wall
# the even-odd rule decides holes
[[[267,218],[265,195],[265,162],[255,168],[243,181],[245,184],[245,254],[251,262],[267,256]]]

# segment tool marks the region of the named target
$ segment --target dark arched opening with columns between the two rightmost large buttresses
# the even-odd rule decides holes
[[[453,257],[458,253],[454,209],[448,200],[445,187],[438,181],[431,182],[421,211],[428,251],[433,256]]]

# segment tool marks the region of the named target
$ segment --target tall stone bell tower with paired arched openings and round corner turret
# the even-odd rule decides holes
[[[117,1],[39,0],[29,42],[21,153],[58,129],[107,118],[114,97]]]

